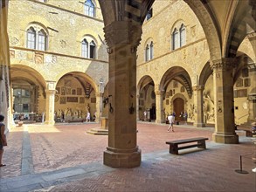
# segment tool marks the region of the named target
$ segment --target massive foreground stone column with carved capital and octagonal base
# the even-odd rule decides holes
[[[108,147],[104,164],[134,168],[141,164],[136,138],[136,47],[141,24],[114,21],[105,28],[109,53]]]

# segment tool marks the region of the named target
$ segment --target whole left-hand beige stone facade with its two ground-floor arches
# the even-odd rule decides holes
[[[51,113],[48,118],[60,121],[61,113],[69,109],[66,121],[80,120],[85,119],[86,106],[89,106],[91,116],[97,113],[99,120],[102,109],[96,106],[96,93],[102,93],[100,84],[107,84],[107,46],[98,2],[95,3],[95,17],[87,17],[83,6],[83,3],[66,1],[10,1],[11,85],[14,90],[33,86],[30,90],[32,100],[22,96],[21,101],[16,95],[13,113],[36,113],[37,121],[41,120],[42,113],[46,113],[46,117]],[[28,48],[30,27],[46,32],[45,50]],[[96,45],[93,58],[82,57],[81,42],[85,37],[93,39]],[[48,86],[52,86],[51,89]],[[47,90],[56,90],[52,102],[47,101]],[[22,108],[19,102],[23,102]],[[46,103],[53,111],[45,111]]]

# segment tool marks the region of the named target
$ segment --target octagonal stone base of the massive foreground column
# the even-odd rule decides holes
[[[104,151],[103,163],[111,168],[135,168],[142,162],[142,150],[135,149],[116,149],[107,147]]]

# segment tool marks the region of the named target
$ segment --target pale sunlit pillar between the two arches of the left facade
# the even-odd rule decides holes
[[[46,106],[45,106],[45,124],[54,125],[54,99],[56,90],[53,82],[47,83],[46,94]]]

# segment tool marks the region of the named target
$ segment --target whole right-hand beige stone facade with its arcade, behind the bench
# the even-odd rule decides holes
[[[164,122],[168,114],[176,112],[177,120],[181,112],[188,113],[188,121],[195,122],[195,107],[197,107],[196,91],[193,86],[203,86],[203,122],[215,123],[215,105],[212,74],[204,79],[204,85],[200,85],[199,79],[204,76],[205,68],[210,67],[210,51],[204,30],[197,16],[183,1],[156,1],[152,6],[153,17],[146,20],[142,26],[142,41],[138,48],[137,59],[137,85],[139,92],[138,119],[142,120],[144,111],[149,112],[150,119]],[[172,32],[181,24],[185,25],[185,45],[172,50]],[[146,45],[153,41],[154,56],[149,61],[145,59]],[[249,93],[255,88],[255,74],[252,66],[255,66],[255,51],[246,38],[239,46],[238,64],[243,63],[242,58],[247,59],[242,72],[238,72],[234,83],[234,107],[236,124],[244,124],[249,120]],[[247,65],[248,64],[248,65]],[[245,74],[245,72],[247,72]],[[243,78],[244,76],[244,78]],[[239,85],[239,82],[240,85]],[[250,83],[249,83],[250,82]],[[252,82],[252,83],[251,83]],[[187,86],[190,86],[187,88]],[[157,99],[156,91],[163,91],[163,107],[161,117],[156,116]],[[192,94],[191,94],[192,93]],[[193,94],[194,93],[194,94]],[[239,94],[238,94],[239,93]],[[182,107],[175,108],[174,101],[181,100]],[[150,114],[151,112],[151,114]],[[255,116],[255,112],[254,112]],[[197,122],[196,122],[197,124]]]

